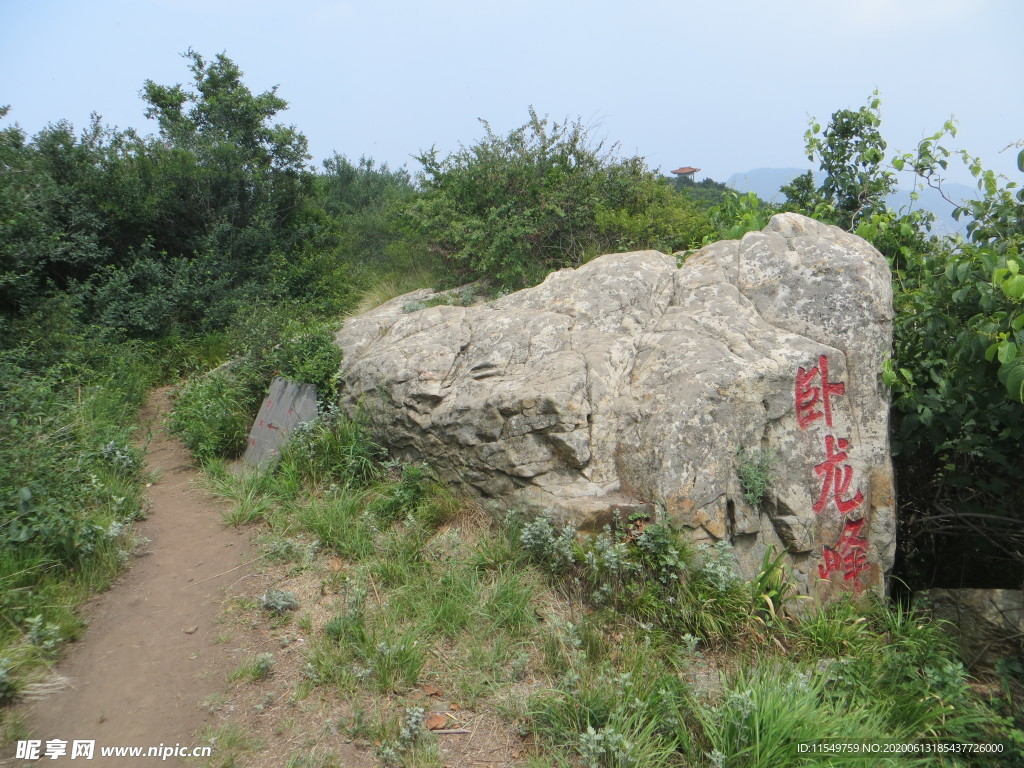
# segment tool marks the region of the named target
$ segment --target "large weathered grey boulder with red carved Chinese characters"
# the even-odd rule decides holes
[[[884,589],[894,551],[885,259],[796,214],[682,267],[602,256],[475,307],[350,319],[342,402],[404,460],[578,524],[641,511],[727,540],[741,571],[788,550],[802,590]],[[744,454],[771,452],[763,500]]]

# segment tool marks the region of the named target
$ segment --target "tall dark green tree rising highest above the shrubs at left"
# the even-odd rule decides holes
[[[273,265],[317,225],[306,139],[271,123],[287,106],[276,88],[254,94],[223,53],[184,57],[191,90],[142,88],[159,135],[114,144],[110,220],[127,254],[84,292],[101,323],[132,335],[223,326],[242,302],[287,292]]]

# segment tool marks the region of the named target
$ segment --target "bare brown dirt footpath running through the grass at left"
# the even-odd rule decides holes
[[[218,626],[225,593],[241,592],[252,558],[247,538],[220,522],[221,508],[197,487],[188,454],[163,425],[168,391],[157,390],[142,411],[152,430],[146,464],[157,472],[153,506],[136,525],[151,540],[129,570],[85,607],[88,629],[56,673],[67,683],[36,702],[34,738],[95,739],[89,765],[184,765],[159,758],[102,758],[100,746],[193,746],[208,721],[200,702],[224,688],[238,658]],[[237,568],[237,569],[234,569]],[[46,764],[51,764],[49,760]],[[195,765],[195,763],[193,763]]]

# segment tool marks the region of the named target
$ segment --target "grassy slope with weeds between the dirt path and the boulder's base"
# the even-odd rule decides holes
[[[786,617],[772,610],[784,571],[770,564],[743,584],[727,551],[692,551],[656,524],[578,541],[543,520],[496,523],[424,468],[381,458],[336,419],[271,474],[208,465],[283,588],[242,616],[283,645],[308,639],[298,667],[281,652],[231,676],[238,714],[221,735],[239,746],[213,765],[460,764],[453,739],[423,727],[439,698],[453,722],[504,734],[503,759],[538,767],[819,765],[827,756],[797,744],[826,738],[1014,749],[1002,702],[975,694],[923,615],[850,601]],[[257,697],[275,656],[282,674]],[[259,703],[286,694],[290,709]],[[315,762],[296,762],[296,741]]]

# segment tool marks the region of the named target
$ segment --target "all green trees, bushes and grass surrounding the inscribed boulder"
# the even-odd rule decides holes
[[[189,84],[144,84],[153,135],[98,118],[32,137],[0,128],[0,701],[81,631],[76,605],[131,548],[130,523],[145,513],[132,429],[147,388],[181,383],[173,426],[238,496],[218,462],[240,454],[281,373],[317,384],[325,418],[273,475],[246,480],[264,483],[246,497],[262,506],[234,514],[265,526],[271,546],[315,543],[349,563],[337,615],[315,628],[309,685],[407,691],[425,647],[482,632],[483,616],[498,629],[477,638],[479,653],[494,654],[506,682],[529,670],[547,686],[514,714],[535,734],[537,765],[782,765],[769,739],[800,733],[999,741],[1012,759],[1022,737],[1004,708],[1019,665],[983,701],[916,613],[844,604],[786,618],[777,563],[739,584],[725,560],[689,551],[668,527],[583,545],[511,519],[470,551],[438,554],[458,505],[427,469],[387,463],[331,411],[330,334],[346,312],[420,287],[516,290],[609,251],[686,252],[761,228],[779,209],[677,185],[579,122],[532,110],[507,135],[484,123],[447,157],[421,152],[413,172],[342,155],[314,169],[302,133],[274,122],[287,106],[275,90],[252,93],[222,54],[185,60]],[[1019,588],[1024,193],[946,148],[952,124],[887,156],[879,110],[874,98],[810,127],[825,180],[796,179],[781,209],[856,231],[892,266],[896,342],[882,375],[894,402],[898,575],[909,590]],[[933,238],[928,214],[886,207],[897,172],[941,187],[957,161],[978,178],[959,210],[967,240]],[[428,581],[465,599],[394,607]],[[539,624],[548,599],[571,621]],[[679,687],[675,673],[698,648],[733,654],[741,638],[743,664],[714,703]],[[635,706],[621,702],[624,686]],[[850,730],[841,713],[853,713]],[[820,727],[793,731],[806,722]],[[408,762],[420,748],[401,734],[416,728],[381,727],[387,760],[431,764]],[[973,759],[922,758],[957,760]]]

